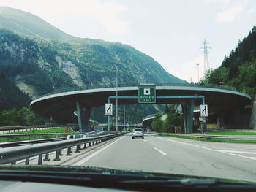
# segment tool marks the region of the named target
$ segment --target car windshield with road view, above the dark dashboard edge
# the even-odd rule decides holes
[[[256,181],[255,10],[1,0],[0,164]]]

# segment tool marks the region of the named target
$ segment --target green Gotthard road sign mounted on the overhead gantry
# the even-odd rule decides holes
[[[138,102],[144,104],[156,103],[156,86],[140,85],[138,90]]]

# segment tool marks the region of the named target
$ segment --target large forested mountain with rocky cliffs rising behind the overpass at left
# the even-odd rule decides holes
[[[116,66],[120,85],[184,82],[129,45],[72,37],[18,9],[0,7],[0,28],[0,72],[32,99],[61,88],[115,86]],[[139,108],[142,117],[159,110]]]

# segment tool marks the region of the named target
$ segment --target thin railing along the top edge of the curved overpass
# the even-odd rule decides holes
[[[124,83],[124,84],[119,84],[118,87],[135,87],[138,85],[140,85],[140,83],[138,83],[138,82],[130,82],[130,83],[128,82],[128,83]],[[238,91],[236,88],[226,86],[226,85],[214,85],[214,84],[200,85],[200,84],[189,84],[189,83],[154,83],[154,85],[156,85],[156,86],[194,87],[194,88],[218,88],[218,89],[224,89],[224,90],[244,93],[243,91]],[[69,92],[69,91],[81,91],[81,90],[88,90],[88,89],[95,89],[95,88],[116,88],[116,85],[114,85],[114,84],[91,85],[91,86],[79,87],[79,88],[62,88],[62,89],[53,91],[52,93],[47,93],[42,96],[38,96],[37,99],[44,97],[44,96],[56,94],[56,93],[64,93],[64,92]]]

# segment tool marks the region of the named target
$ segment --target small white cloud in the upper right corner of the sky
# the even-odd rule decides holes
[[[231,22],[241,15],[244,10],[244,4],[238,3],[234,4],[229,9],[225,9],[223,12],[219,12],[216,15],[216,20],[220,22]]]

